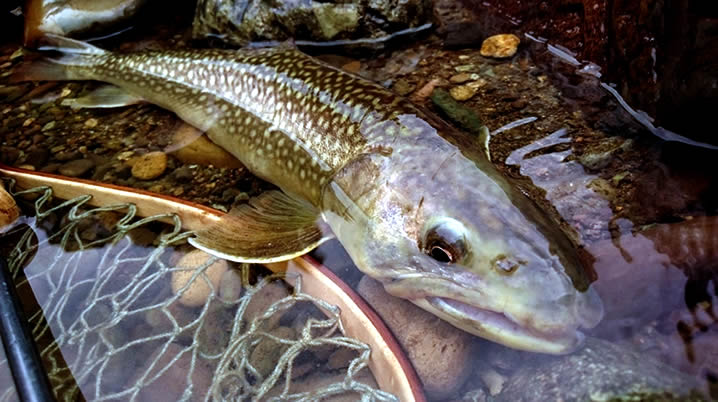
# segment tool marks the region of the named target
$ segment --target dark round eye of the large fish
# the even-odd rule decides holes
[[[426,231],[421,248],[438,262],[450,264],[461,261],[466,255],[464,226],[454,219],[439,222]]]

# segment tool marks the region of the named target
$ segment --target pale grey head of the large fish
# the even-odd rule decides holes
[[[603,308],[565,234],[490,164],[419,148],[432,151],[365,156],[328,187],[340,207],[325,219],[357,267],[483,338],[550,354],[578,347]]]

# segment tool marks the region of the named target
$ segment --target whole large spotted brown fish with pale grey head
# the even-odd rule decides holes
[[[113,53],[49,35],[58,56],[12,81],[96,80],[75,108],[150,102],[279,189],[197,231],[197,248],[269,263],[336,237],[388,293],[511,348],[570,353],[603,316],[567,235],[477,140],[291,45]]]

